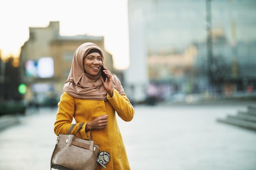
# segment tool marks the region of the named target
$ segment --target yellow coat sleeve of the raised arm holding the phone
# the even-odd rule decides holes
[[[130,104],[129,99],[126,95],[120,95],[118,91],[114,88],[113,96],[107,94],[107,99],[112,105],[112,107],[117,111],[117,114],[124,121],[131,121],[134,116],[134,109],[132,104]]]

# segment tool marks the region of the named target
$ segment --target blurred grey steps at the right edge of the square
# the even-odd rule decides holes
[[[227,115],[217,121],[256,131],[256,105],[249,105],[247,111],[238,111],[236,115]]]

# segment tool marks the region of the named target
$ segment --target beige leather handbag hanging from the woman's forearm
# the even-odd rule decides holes
[[[82,128],[81,123],[76,133]],[[75,124],[70,126],[67,135],[58,135],[52,153],[51,168],[57,170],[95,170],[99,146],[92,140],[79,139],[70,135]]]

